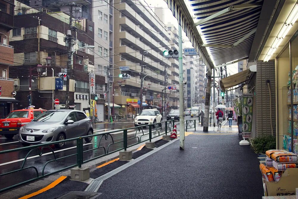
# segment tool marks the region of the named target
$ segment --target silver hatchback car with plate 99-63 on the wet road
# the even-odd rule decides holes
[[[79,136],[92,135],[93,128],[90,118],[82,111],[57,109],[43,112],[19,130],[18,141],[23,146],[61,141]],[[85,138],[91,142],[92,137]],[[64,146],[64,142],[55,145]]]

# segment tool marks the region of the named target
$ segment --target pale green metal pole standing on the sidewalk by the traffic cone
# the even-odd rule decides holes
[[[180,150],[184,150],[184,100],[183,100],[183,58],[182,58],[182,28],[179,25],[179,124],[180,124]]]

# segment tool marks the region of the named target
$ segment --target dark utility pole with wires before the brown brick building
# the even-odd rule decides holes
[[[72,5],[69,9],[69,30],[72,30]],[[65,109],[69,108],[69,78],[71,77],[71,61],[72,61],[72,35],[68,35],[67,39],[67,73],[66,76],[66,95],[65,95]],[[90,104],[91,106],[91,104]],[[90,113],[91,114],[91,113]]]

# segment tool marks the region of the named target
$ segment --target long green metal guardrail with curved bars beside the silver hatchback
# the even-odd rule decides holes
[[[163,124],[165,124],[165,126],[163,126]],[[143,127],[149,127],[149,132],[147,134],[144,134]],[[152,127],[153,127],[153,129],[152,129]],[[162,128],[162,127],[164,127],[164,128]],[[87,136],[82,136],[82,137],[78,137],[78,138],[66,139],[66,140],[63,140],[63,141],[55,141],[55,142],[50,142],[50,143],[46,143],[46,144],[38,144],[38,145],[26,146],[26,147],[17,148],[17,149],[10,149],[10,150],[5,150],[5,151],[0,151],[0,155],[1,154],[7,155],[10,152],[16,152],[16,151],[22,151],[22,150],[31,149],[27,153],[27,155],[25,156],[21,168],[20,169],[13,170],[13,171],[10,171],[10,172],[6,172],[6,173],[0,174],[0,181],[1,181],[1,177],[2,176],[9,175],[9,174],[12,174],[12,173],[15,173],[15,172],[24,171],[26,169],[34,169],[35,172],[36,172],[36,177],[35,178],[32,178],[30,180],[26,180],[26,181],[23,181],[23,182],[14,184],[12,186],[5,187],[3,189],[0,189],[0,192],[3,192],[3,191],[6,191],[8,189],[12,189],[14,187],[17,187],[17,186],[20,186],[20,185],[23,185],[23,184],[26,184],[26,183],[29,183],[29,182],[32,182],[32,181],[35,181],[35,180],[44,178],[44,177],[47,177],[49,175],[52,175],[52,174],[61,172],[61,171],[66,170],[66,169],[70,169],[70,168],[75,167],[75,166],[78,166],[79,168],[81,168],[81,166],[82,166],[83,163],[86,163],[86,162],[95,160],[97,158],[101,158],[101,157],[103,157],[105,155],[109,155],[111,153],[114,153],[114,152],[117,152],[117,151],[120,151],[120,150],[123,150],[123,149],[126,150],[128,147],[131,147],[131,146],[140,144],[140,143],[145,142],[145,141],[148,141],[148,140],[151,141],[153,138],[156,138],[156,137],[158,137],[160,135],[164,135],[164,134],[167,135],[167,133],[169,131],[171,131],[171,129],[173,129],[173,127],[174,127],[174,120],[170,120],[170,121],[163,121],[163,122],[160,122],[160,123],[155,123],[154,125],[152,125],[152,124],[143,125],[143,126],[139,126],[139,127],[132,127],[132,128],[127,128],[127,129],[121,129],[121,130],[115,130],[115,131],[111,131],[111,132],[106,132],[106,133],[103,132],[103,133],[100,133],[100,134],[93,134],[93,135],[87,135]],[[136,129],[136,132],[135,132],[133,138],[128,138],[127,130],[129,130],[129,129]],[[113,139],[113,136],[111,135],[111,133],[122,132],[122,131],[123,131],[123,140],[122,141],[118,141],[118,142],[114,142],[114,139]],[[137,134],[138,131],[139,132],[142,131],[142,134],[143,135],[141,135],[140,137],[136,136],[136,134]],[[157,132],[157,135],[154,136],[154,137],[152,137],[152,134],[154,134],[156,132]],[[149,138],[146,139],[146,140],[141,140],[142,136],[145,136],[145,135],[149,135]],[[98,136],[101,136],[98,146],[96,148],[94,148],[94,149],[88,149],[86,151],[83,151],[83,139],[84,138],[88,138],[88,137],[98,137]],[[101,142],[103,136],[105,137],[105,140],[108,139],[108,136],[111,137],[112,143],[108,145],[108,148],[107,149],[104,146],[100,146],[100,142]],[[134,144],[131,144],[131,145],[128,145],[128,140],[132,140],[132,139],[136,139],[136,138],[138,139],[138,142],[136,142]],[[61,142],[70,142],[70,141],[76,141],[76,153],[71,154],[71,155],[67,155],[67,156],[64,156],[64,157],[61,157],[61,158],[56,158],[55,151],[51,147],[49,147],[49,145],[58,144],[58,143],[61,143]],[[114,144],[121,143],[121,142],[123,142],[123,147],[109,152],[109,147],[110,146],[112,146]],[[41,174],[38,172],[38,169],[35,166],[24,167],[25,166],[25,163],[27,161],[27,158],[29,157],[29,155],[33,151],[37,151],[38,152],[38,155],[41,156],[43,154],[43,149],[45,149],[45,148],[49,149],[52,152],[54,159],[53,160],[50,160],[50,161],[47,161],[44,164],[43,169],[41,171]],[[98,149],[103,149],[104,150],[104,154],[103,155],[96,156],[96,157],[93,157],[93,158],[90,158],[90,159],[87,159],[87,160],[84,160],[84,153],[89,152],[89,151],[93,151],[93,150],[98,150]],[[72,157],[72,156],[76,156],[77,157],[77,160],[71,166],[67,166],[67,167],[64,167],[62,169],[58,169],[57,171],[50,172],[50,173],[47,173],[47,174],[44,173],[45,168],[46,168],[46,165],[48,163],[51,163],[51,162],[54,162],[54,161],[59,161],[59,160],[62,160],[62,159],[65,159],[65,158],[69,158],[69,157]]]

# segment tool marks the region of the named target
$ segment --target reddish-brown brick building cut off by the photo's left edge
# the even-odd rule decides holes
[[[9,66],[13,65],[13,46],[9,39],[9,31],[13,28],[13,0],[0,0],[0,118],[13,110],[15,100],[13,79],[9,75]]]

